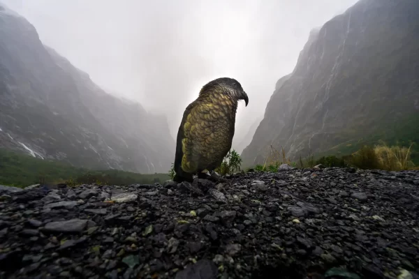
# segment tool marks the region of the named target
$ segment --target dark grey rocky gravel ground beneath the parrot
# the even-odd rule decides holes
[[[0,278],[419,278],[418,171],[228,179],[0,188]]]

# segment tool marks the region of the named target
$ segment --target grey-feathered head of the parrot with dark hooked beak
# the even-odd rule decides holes
[[[242,85],[237,80],[230,77],[220,77],[216,80],[212,80],[203,86],[201,93],[215,90],[219,93],[226,94],[236,102],[238,100],[244,100],[247,104],[249,103],[249,97],[244,92]]]

